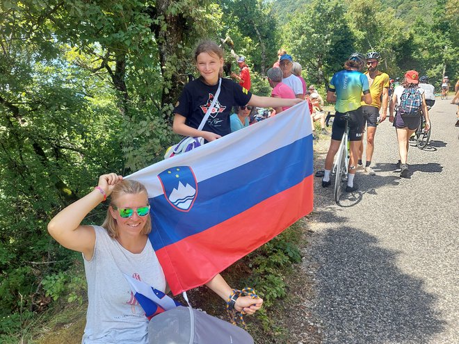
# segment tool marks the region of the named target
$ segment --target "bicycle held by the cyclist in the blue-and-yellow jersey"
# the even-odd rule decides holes
[[[331,117],[335,117],[330,112],[328,113],[327,117],[325,118],[325,125],[329,126],[328,122],[330,121]],[[339,197],[341,196],[341,188],[343,183],[347,183],[348,181],[348,167],[349,167],[349,158],[351,157],[351,153],[349,151],[349,126],[348,121],[351,116],[346,113],[341,117],[345,120],[344,124],[344,135],[341,139],[341,143],[339,144],[339,149],[337,152],[337,157],[335,158],[335,164],[333,165],[332,173],[335,174],[335,202],[339,204]]]

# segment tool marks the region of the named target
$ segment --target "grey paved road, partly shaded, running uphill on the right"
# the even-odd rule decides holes
[[[410,148],[410,179],[394,172],[389,122],[376,133],[377,175],[357,174],[355,197],[337,206],[316,178],[304,265],[316,266],[323,343],[459,343],[459,128],[449,101],[430,112],[430,149]]]

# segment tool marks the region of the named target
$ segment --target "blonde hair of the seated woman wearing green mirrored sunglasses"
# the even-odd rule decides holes
[[[110,206],[117,206],[116,199],[118,199],[122,195],[136,195],[138,193],[145,193],[145,197],[147,197],[148,195],[147,189],[145,188],[145,186],[143,186],[142,183],[139,183],[138,181],[134,181],[131,179],[124,179],[120,183],[116,184],[113,188],[113,191],[111,192],[110,196]],[[111,238],[118,238],[118,224],[111,215],[110,208],[107,209],[107,214],[104,223],[102,224],[102,227],[106,229],[108,235],[111,236]],[[147,222],[145,222],[145,226],[143,227],[140,234],[147,235],[150,234],[150,231],[152,231],[152,218],[150,217],[150,215],[147,215]]]

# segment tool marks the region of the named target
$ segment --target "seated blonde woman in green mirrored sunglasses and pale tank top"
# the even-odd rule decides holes
[[[102,226],[82,225],[86,215],[110,195]],[[167,290],[163,269],[148,237],[151,228],[145,186],[115,173],[99,177],[94,190],[49,222],[49,234],[58,243],[83,254],[88,283],[83,344],[148,343],[148,320],[123,274]],[[206,285],[225,301],[232,293],[220,275]],[[239,297],[234,309],[253,314],[262,303],[261,299]]]

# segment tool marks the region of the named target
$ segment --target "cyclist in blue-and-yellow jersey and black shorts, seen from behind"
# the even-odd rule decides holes
[[[349,161],[348,186],[346,192],[351,193],[357,190],[357,184],[354,184],[355,165],[357,165],[357,156],[360,141],[362,140],[364,118],[362,113],[363,100],[365,104],[371,104],[370,88],[367,76],[360,72],[365,62],[362,54],[354,53],[349,56],[344,63],[344,70],[337,72],[332,76],[330,85],[327,90],[327,101],[335,103],[335,121],[332,126],[332,140],[325,158],[325,174],[322,179],[322,187],[326,188],[332,183],[330,181],[330,171],[332,170],[333,159],[337,154],[341,138],[344,135],[345,121],[341,118],[348,113],[351,118],[349,125],[349,140],[351,142],[351,158]],[[363,93],[363,97],[362,97]]]

